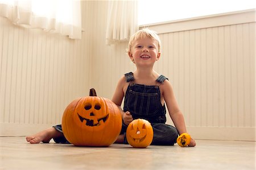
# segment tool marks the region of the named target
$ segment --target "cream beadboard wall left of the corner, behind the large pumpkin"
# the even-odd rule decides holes
[[[0,28],[0,135],[29,135],[60,123],[68,103],[89,93],[90,32],[71,40],[6,18]]]

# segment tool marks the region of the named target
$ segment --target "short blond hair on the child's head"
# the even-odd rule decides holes
[[[127,52],[131,52],[131,47],[133,46],[133,43],[135,40],[146,38],[146,37],[156,40],[156,42],[158,43],[158,52],[160,52],[160,47],[161,47],[160,38],[155,31],[152,31],[148,28],[143,28],[142,30],[135,32],[135,34],[131,36],[129,40]]]

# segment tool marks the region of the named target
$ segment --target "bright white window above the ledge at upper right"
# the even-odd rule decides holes
[[[139,0],[138,24],[255,9],[255,0]]]

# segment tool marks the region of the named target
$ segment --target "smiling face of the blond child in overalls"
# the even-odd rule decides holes
[[[144,37],[134,40],[131,51],[128,53],[131,61],[136,65],[151,65],[160,57],[158,51],[158,42],[150,37]]]

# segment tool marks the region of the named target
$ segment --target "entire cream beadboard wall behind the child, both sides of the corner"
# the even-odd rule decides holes
[[[105,45],[108,1],[81,2],[82,40],[1,18],[1,135],[60,123],[65,106],[89,88],[111,99],[119,77],[134,71],[126,42]],[[254,16],[245,11],[148,26],[163,45],[155,70],[170,79],[197,139],[255,140]]]

